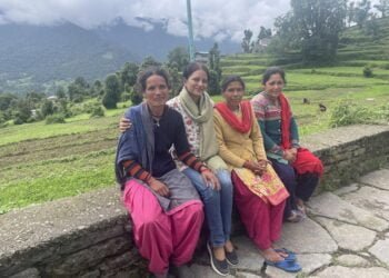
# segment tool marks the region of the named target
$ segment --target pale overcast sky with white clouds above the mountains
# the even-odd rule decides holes
[[[243,30],[271,28],[290,0],[191,0],[193,33],[217,40],[240,41]],[[130,26],[150,29],[139,18],[166,21],[168,32],[187,36],[187,0],[0,0],[0,23],[56,24],[70,21],[83,28],[110,24],[122,18]]]

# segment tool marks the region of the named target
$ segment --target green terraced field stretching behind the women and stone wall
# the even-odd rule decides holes
[[[356,29],[343,36],[349,36],[352,43],[339,50],[336,67],[282,64],[287,68],[288,81],[285,92],[302,137],[330,128],[331,112],[341,99],[352,100],[355,106],[389,107],[388,40],[372,42]],[[276,60],[280,58],[268,54],[223,57],[222,72],[223,76],[241,75],[247,82],[247,98],[250,98],[261,90],[261,73]],[[372,78],[363,77],[365,66],[372,69]],[[310,103],[303,105],[303,98]],[[218,102],[221,97],[213,99]],[[327,107],[326,112],[319,110],[319,103]],[[36,122],[1,128],[0,214],[116,186],[117,125],[124,110],[110,110],[106,117],[93,119],[79,115],[67,119],[67,123]]]

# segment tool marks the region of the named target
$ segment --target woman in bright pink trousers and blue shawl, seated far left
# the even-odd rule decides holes
[[[156,277],[167,277],[169,261],[182,266],[192,258],[203,221],[198,193],[177,170],[169,149],[174,145],[178,158],[210,185],[217,178],[190,152],[180,113],[166,106],[166,71],[150,68],[139,85],[146,101],[126,113],[133,128],[119,140],[117,178],[140,254]]]

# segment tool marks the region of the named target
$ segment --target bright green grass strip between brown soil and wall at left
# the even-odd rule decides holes
[[[113,186],[113,149],[92,155],[22,163],[1,171],[0,214]]]

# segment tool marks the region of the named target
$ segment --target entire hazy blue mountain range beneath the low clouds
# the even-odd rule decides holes
[[[188,44],[186,37],[167,33],[161,22],[153,29],[129,27],[118,19],[114,24],[86,30],[70,22],[57,26],[0,24],[0,92],[52,93],[81,76],[89,81],[103,79],[127,61],[140,62],[146,56],[166,60],[168,52]],[[208,51],[212,39],[194,41]],[[239,44],[223,42],[222,53],[239,51]]]

